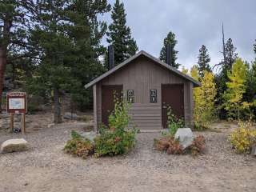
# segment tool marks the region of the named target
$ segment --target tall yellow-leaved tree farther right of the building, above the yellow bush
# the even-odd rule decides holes
[[[246,92],[246,65],[238,58],[232,70],[228,72],[229,82],[226,82],[227,90],[223,94],[224,106],[228,111],[229,118],[240,118],[240,111],[248,106],[242,102],[243,94]]]

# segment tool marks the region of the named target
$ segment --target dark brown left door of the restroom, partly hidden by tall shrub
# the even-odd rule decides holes
[[[108,118],[114,110],[114,93],[122,97],[122,86],[102,86],[102,124],[108,126]]]

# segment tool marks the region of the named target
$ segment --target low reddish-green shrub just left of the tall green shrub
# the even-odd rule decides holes
[[[71,139],[66,142],[64,151],[67,154],[74,154],[81,158],[87,158],[89,155],[94,154],[94,145],[89,139],[84,139],[76,131],[72,130]]]

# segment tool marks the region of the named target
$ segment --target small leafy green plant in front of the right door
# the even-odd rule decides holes
[[[167,127],[170,135],[176,134],[178,128],[184,127],[184,121],[173,114],[170,106],[167,107]]]

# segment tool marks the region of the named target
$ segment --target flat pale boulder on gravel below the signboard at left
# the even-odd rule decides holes
[[[18,151],[24,151],[28,149],[27,142],[24,138],[9,139],[2,143],[0,153],[12,153]]]

